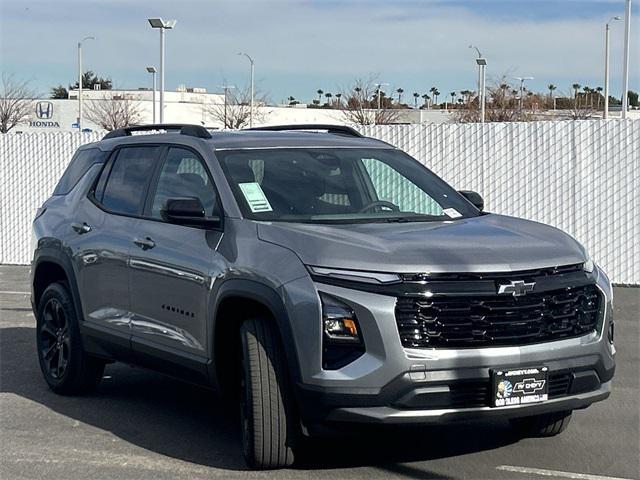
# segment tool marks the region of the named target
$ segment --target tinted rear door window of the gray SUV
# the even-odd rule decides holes
[[[98,181],[96,199],[114,213],[140,214],[159,154],[160,147],[120,149],[111,168],[105,168]],[[103,181],[105,175],[107,178]]]

